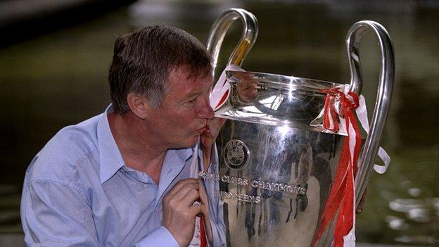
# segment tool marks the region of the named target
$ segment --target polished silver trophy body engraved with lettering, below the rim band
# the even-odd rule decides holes
[[[222,152],[217,196],[224,203],[227,246],[310,246],[344,139],[294,127],[227,121],[217,141]],[[230,140],[248,146],[245,169],[226,165]]]

